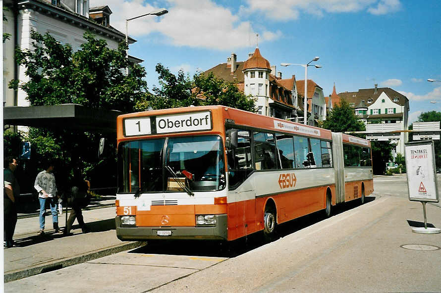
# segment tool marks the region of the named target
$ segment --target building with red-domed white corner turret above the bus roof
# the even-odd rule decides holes
[[[204,72],[229,82],[236,83],[239,90],[256,100],[258,113],[281,119],[303,116],[303,102],[299,103],[295,76],[282,79],[276,75],[276,66],[271,66],[258,48],[248,55],[246,61],[237,61],[235,53],[221,63]]]

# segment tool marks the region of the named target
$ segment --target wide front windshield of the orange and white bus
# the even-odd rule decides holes
[[[215,135],[120,143],[118,193],[222,190],[222,149]]]

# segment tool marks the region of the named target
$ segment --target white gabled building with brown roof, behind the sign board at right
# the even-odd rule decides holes
[[[377,85],[373,89],[344,92],[338,96],[354,108],[355,115],[366,125],[367,140],[388,141],[396,145],[392,151],[393,158],[397,153],[404,155],[409,117],[409,100],[406,96],[390,88],[378,88]]]

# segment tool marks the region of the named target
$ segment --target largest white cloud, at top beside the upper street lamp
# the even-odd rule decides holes
[[[153,2],[154,3],[154,2]],[[157,8],[144,0],[90,0],[90,5],[109,5],[114,11],[110,24],[125,32],[125,19],[149,13]],[[129,35],[134,38],[152,32],[165,35],[174,46],[231,50],[254,44],[256,33],[249,21],[242,21],[233,12],[213,0],[168,0],[169,13],[158,18],[146,16],[129,21]],[[265,31],[259,43],[274,41],[281,32]]]

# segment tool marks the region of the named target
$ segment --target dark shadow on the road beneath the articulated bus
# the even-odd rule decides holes
[[[366,196],[365,202],[375,200],[375,196]],[[359,200],[352,200],[350,202],[334,207],[332,215],[337,215],[357,206],[360,206]],[[318,211],[289,222],[277,226],[277,237],[286,237],[301,229],[314,225],[326,219],[323,211]],[[148,241],[148,244],[129,253],[141,254],[173,254],[173,255],[191,255],[191,256],[207,256],[207,257],[235,257],[256,249],[262,245],[267,244],[264,240],[263,233],[258,232],[241,239],[231,242],[206,241],[206,240],[153,240]]]

